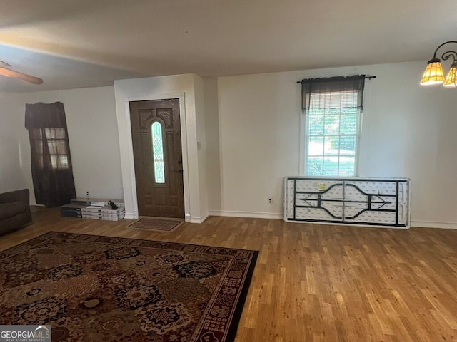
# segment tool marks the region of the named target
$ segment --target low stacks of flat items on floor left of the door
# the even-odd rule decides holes
[[[71,203],[60,207],[61,216],[107,221],[123,219],[126,212],[124,203],[113,201],[117,206],[117,209],[113,209],[108,202],[108,199],[71,199]]]

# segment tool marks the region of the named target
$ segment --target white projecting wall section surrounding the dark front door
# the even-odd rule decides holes
[[[121,145],[121,169],[124,186],[126,217],[138,217],[134,157],[131,144],[129,101],[179,98],[181,113],[181,142],[184,169],[184,212],[186,222],[203,222],[207,216],[206,193],[201,185],[201,165],[205,155],[197,149],[201,142],[204,150],[204,130],[198,128],[204,120],[203,82],[196,75],[137,78],[114,82],[116,112]],[[203,123],[204,125],[204,123]],[[205,167],[205,166],[203,166]]]

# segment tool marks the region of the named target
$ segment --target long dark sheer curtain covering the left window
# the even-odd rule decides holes
[[[64,104],[26,104],[31,175],[37,204],[58,207],[76,197]]]

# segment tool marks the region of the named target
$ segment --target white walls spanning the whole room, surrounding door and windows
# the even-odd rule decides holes
[[[0,94],[0,192],[33,190],[25,103],[61,101],[77,195],[89,190],[96,197],[124,197],[133,212],[125,103],[130,98],[181,94],[189,219],[201,222],[207,207],[210,214],[281,218],[283,177],[298,175],[301,168],[301,90],[296,81],[366,73],[377,78],[366,81],[360,175],[411,178],[413,225],[457,228],[457,90],[419,86],[425,64],[227,76],[203,82],[194,75],[164,76],[116,81],[115,87]],[[273,197],[273,205],[267,204],[267,197]]]

